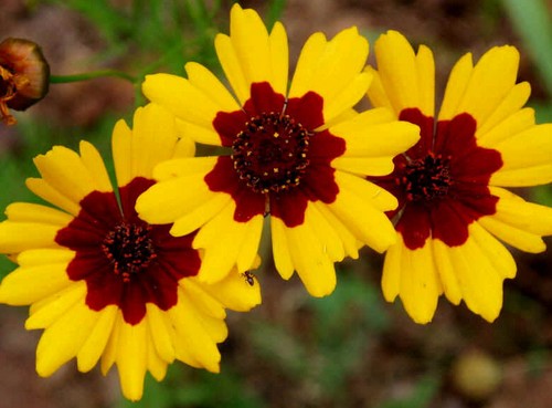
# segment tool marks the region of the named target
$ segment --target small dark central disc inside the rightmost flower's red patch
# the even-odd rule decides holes
[[[411,160],[404,168],[401,182],[404,185],[408,201],[431,201],[446,197],[453,182],[450,157],[429,151],[425,157]]]

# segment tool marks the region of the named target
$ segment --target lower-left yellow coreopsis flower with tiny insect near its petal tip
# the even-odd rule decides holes
[[[28,187],[54,207],[12,203],[0,223],[0,251],[19,264],[0,302],[31,305],[25,327],[44,329],[38,373],[50,376],[73,357],[88,372],[100,359],[104,374],[117,365],[123,394],[137,400],[146,372],[160,380],[176,359],[217,372],[225,307],[258,304],[258,285],[237,273],[200,282],[195,233],[172,237],[134,209],[152,167],[193,154],[193,143],[178,139],[161,107],[139,108],[134,129],[123,121],[114,129],[115,189],[98,151],[86,142],[79,150],[57,146],[35,158],[42,177]]]

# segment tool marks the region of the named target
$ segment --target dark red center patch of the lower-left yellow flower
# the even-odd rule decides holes
[[[142,321],[147,303],[162,311],[174,306],[178,282],[197,275],[201,262],[192,249],[194,234],[172,237],[170,226],[149,226],[138,218],[136,199],[152,184],[135,178],[119,188],[120,207],[113,192],[91,192],[55,238],[75,251],[67,275],[86,281],[88,307],[117,305],[129,324]]]

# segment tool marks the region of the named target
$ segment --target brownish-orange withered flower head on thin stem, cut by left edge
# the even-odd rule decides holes
[[[50,84],[50,66],[38,44],[23,39],[0,43],[0,121],[13,125],[8,108],[24,111],[42,100]]]

